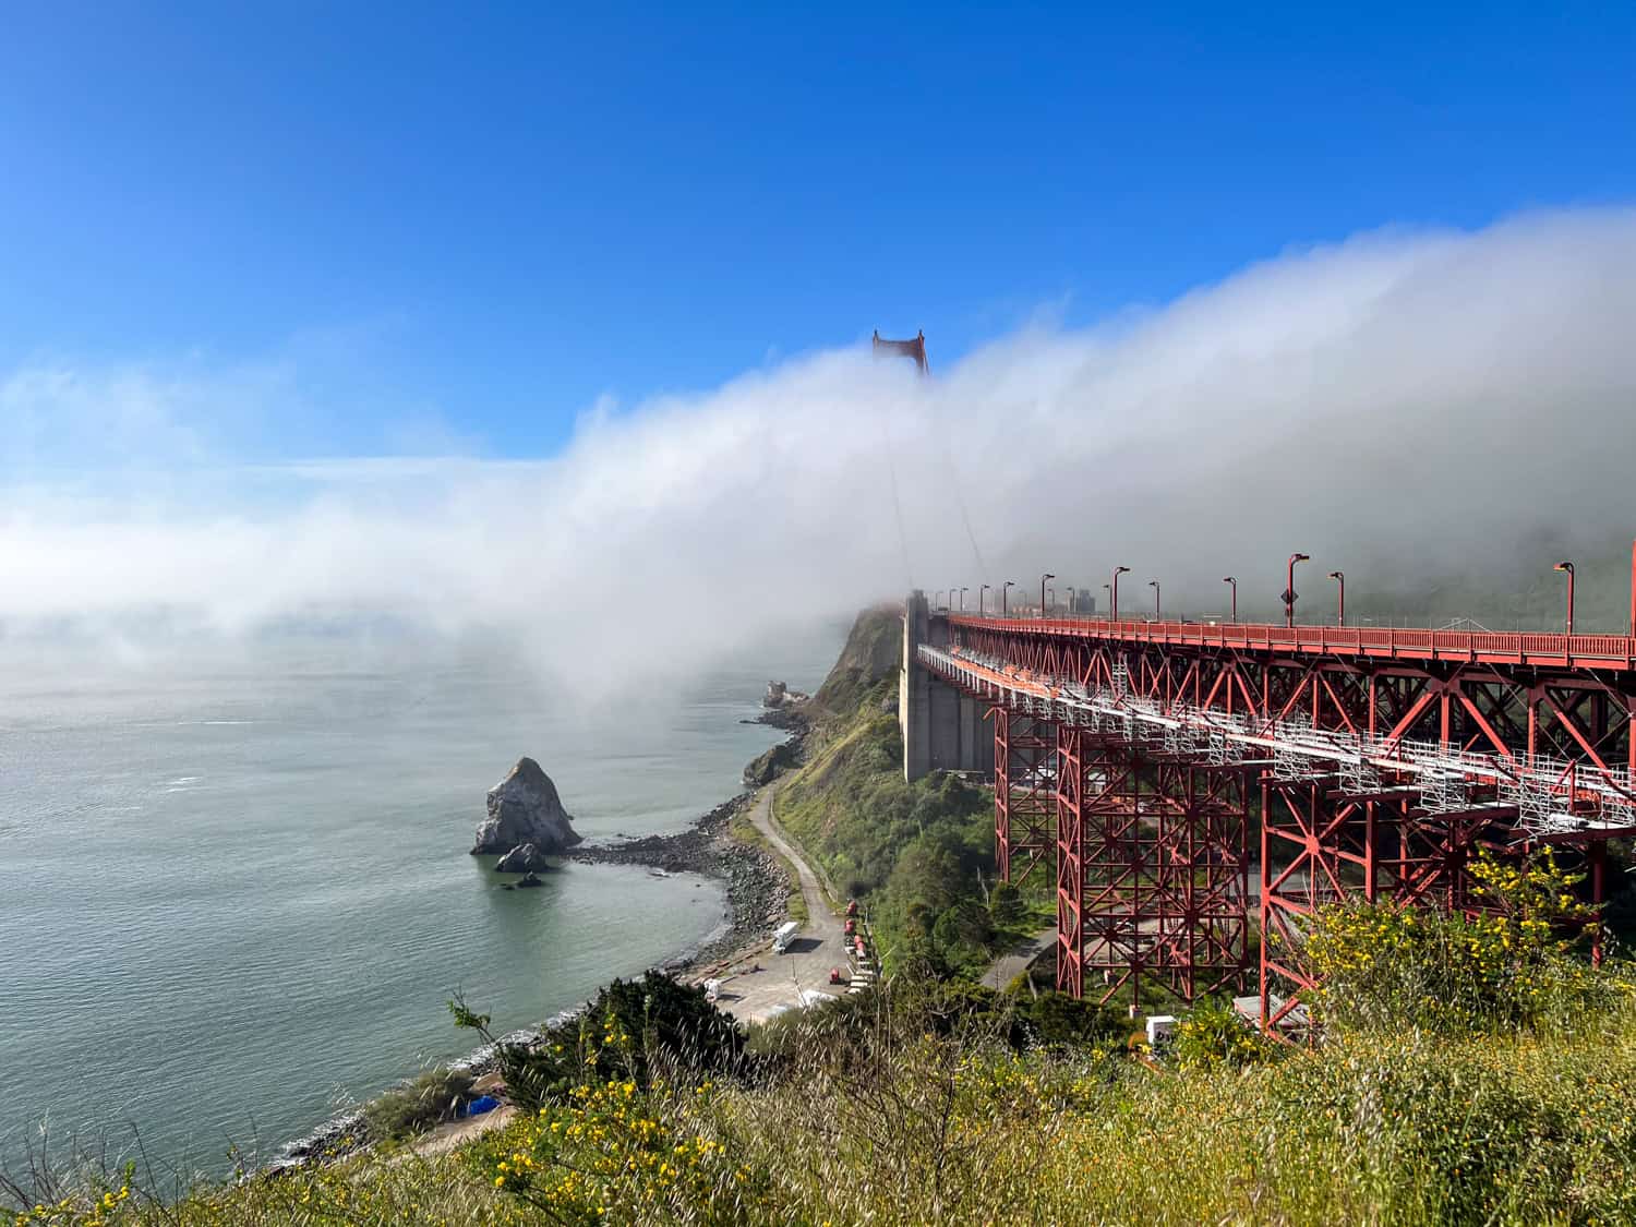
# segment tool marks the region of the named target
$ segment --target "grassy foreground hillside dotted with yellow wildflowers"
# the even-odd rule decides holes
[[[1155,1072],[901,995],[784,1027],[743,1080],[596,1075],[448,1155],[18,1222],[1572,1224],[1636,1219],[1636,1009],[1572,1034],[1338,1037]],[[93,1201],[95,1194],[95,1201]],[[74,1201],[74,1198],[70,1198]]]

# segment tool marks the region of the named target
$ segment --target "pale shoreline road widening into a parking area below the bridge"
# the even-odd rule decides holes
[[[784,856],[800,879],[802,898],[807,900],[807,923],[789,954],[774,954],[771,944],[759,946],[725,970],[718,1005],[741,1022],[759,1022],[777,1006],[800,1008],[802,990],[818,990],[839,996],[846,985],[829,983],[829,969],[846,973],[846,934],[843,921],[831,910],[829,900],[807,861],[772,821],[772,795],[777,785],[761,790],[749,811],[756,829]]]

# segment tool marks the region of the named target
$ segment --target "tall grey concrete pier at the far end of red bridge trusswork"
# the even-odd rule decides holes
[[[903,666],[898,674],[898,726],[903,730],[903,779],[934,771],[995,774],[995,730],[985,705],[933,677],[915,648],[949,645],[949,623],[933,617],[919,589],[903,604]]]

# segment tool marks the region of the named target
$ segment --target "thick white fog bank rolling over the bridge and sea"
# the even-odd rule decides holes
[[[8,455],[0,618],[227,636],[389,618],[497,631],[617,685],[911,581],[1050,569],[1096,589],[1117,561],[1209,610],[1232,571],[1271,612],[1296,548],[1345,568],[1358,607],[1433,610],[1466,578],[1499,617],[1553,550],[1636,527],[1631,319],[1636,213],[1610,209],[1292,250],[1098,327],[996,339],[929,381],[867,347],[807,355],[599,404],[538,461],[250,465],[206,424],[265,381],[20,370],[0,381],[15,440],[72,402],[103,445],[65,470],[59,438],[34,481]],[[1616,620],[1625,573],[1582,578]]]

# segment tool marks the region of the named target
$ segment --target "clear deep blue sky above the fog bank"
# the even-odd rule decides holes
[[[1144,8],[15,7],[0,378],[298,370],[244,452],[538,456],[872,327],[947,366],[1636,195],[1636,7]]]

